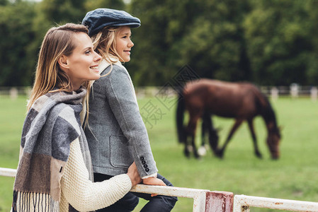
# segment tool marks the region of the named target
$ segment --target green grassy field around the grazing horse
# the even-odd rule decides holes
[[[307,98],[280,98],[272,102],[278,124],[283,126],[280,160],[270,159],[261,118],[255,119],[255,126],[263,160],[254,156],[247,124],[234,134],[223,160],[215,158],[211,151],[201,160],[185,158],[183,146],[176,140],[174,107],[168,110],[154,98],[139,102],[140,108],[151,102],[157,111],[161,110],[162,117],[146,126],[159,172],[176,187],[318,201],[318,102]],[[17,166],[25,103],[25,98],[0,97],[0,167]],[[216,117],[214,122],[222,128],[220,143],[223,143],[233,120]],[[12,187],[13,179],[0,177],[0,211],[9,211]],[[144,203],[140,201],[135,211],[140,211]],[[192,211],[192,207],[192,199],[181,198],[173,211]],[[252,208],[251,211],[273,210]]]

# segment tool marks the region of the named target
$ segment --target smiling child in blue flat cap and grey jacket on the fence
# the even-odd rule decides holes
[[[94,49],[103,57],[100,68],[104,77],[93,83],[89,124],[85,128],[95,181],[123,174],[135,161],[144,184],[172,186],[157,174],[135,90],[121,64],[130,61],[130,50],[134,46],[130,28],[139,27],[140,20],[125,11],[98,8],[87,13],[82,24],[89,28]],[[101,211],[132,211],[138,203],[135,195],[128,193]],[[149,200],[142,211],[171,211],[177,201],[172,196],[137,195]]]

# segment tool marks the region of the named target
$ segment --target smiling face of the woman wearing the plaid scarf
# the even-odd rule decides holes
[[[100,78],[98,63],[101,56],[93,51],[93,44],[89,35],[75,33],[73,42],[75,49],[69,56],[62,56],[59,65],[69,76],[74,90],[78,90],[84,81]]]

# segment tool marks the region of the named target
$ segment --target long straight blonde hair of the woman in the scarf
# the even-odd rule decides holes
[[[88,30],[84,25],[67,23],[47,31],[40,48],[35,82],[27,105],[28,111],[36,99],[45,93],[52,92],[53,88],[72,92],[69,76],[59,68],[57,61],[62,55],[72,54],[76,47],[76,43],[72,39],[75,33],[88,34]],[[82,86],[87,89],[89,94],[89,81],[83,83]]]

